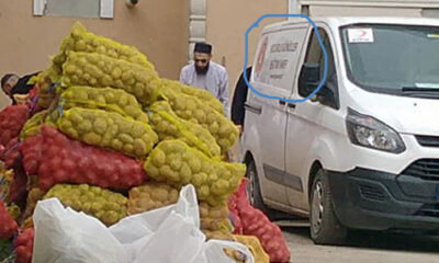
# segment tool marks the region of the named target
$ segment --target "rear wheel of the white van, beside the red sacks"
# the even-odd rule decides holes
[[[258,172],[256,170],[256,164],[255,161],[251,160],[247,164],[247,187],[246,187],[246,194],[247,198],[250,201],[250,204],[263,211],[269,218],[270,218],[270,209],[263,204],[262,199],[262,194],[260,191],[260,184],[259,184],[259,178],[258,178]]]

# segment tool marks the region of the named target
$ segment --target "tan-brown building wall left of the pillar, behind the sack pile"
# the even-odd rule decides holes
[[[0,1],[0,75],[25,75],[49,65],[75,21],[95,34],[134,45],[161,77],[177,79],[188,57],[188,0],[140,0],[134,9],[114,1],[114,19],[33,16],[32,1]],[[0,108],[9,100],[0,92]]]

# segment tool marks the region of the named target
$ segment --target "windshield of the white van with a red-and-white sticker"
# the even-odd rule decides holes
[[[439,96],[439,27],[356,24],[341,28],[349,79],[372,92]]]

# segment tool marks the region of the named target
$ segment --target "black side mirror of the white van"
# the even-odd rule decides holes
[[[299,93],[302,96],[308,96],[317,89],[320,81],[320,66],[315,62],[306,62],[302,66],[299,78]]]

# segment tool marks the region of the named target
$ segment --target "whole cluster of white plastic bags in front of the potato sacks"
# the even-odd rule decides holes
[[[224,249],[238,250],[254,263],[240,243],[205,242],[192,185],[181,190],[176,205],[126,217],[111,228],[56,198],[37,203],[34,225],[33,263],[234,263]]]

